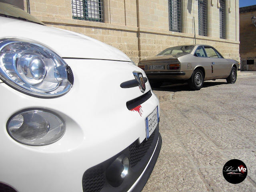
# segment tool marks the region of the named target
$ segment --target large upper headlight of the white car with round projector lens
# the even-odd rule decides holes
[[[52,50],[18,39],[0,40],[0,78],[13,88],[37,97],[67,93],[72,70]]]

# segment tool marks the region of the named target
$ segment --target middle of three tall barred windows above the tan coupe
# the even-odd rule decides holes
[[[199,35],[207,36],[207,7],[206,0],[198,0]]]

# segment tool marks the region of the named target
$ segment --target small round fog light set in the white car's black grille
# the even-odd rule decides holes
[[[120,155],[114,162],[108,167],[106,176],[108,182],[113,187],[118,187],[122,184],[123,180],[129,174],[130,161],[124,154]]]

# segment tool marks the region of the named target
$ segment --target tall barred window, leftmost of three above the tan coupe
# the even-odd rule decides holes
[[[170,31],[181,32],[181,3],[180,0],[168,0]]]

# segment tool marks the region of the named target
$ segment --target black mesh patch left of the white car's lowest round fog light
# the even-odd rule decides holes
[[[83,176],[82,184],[84,192],[99,192],[105,183],[103,166],[95,166],[88,169]]]

